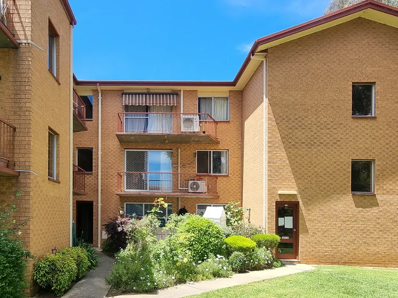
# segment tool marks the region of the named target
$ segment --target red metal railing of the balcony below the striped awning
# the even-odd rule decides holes
[[[134,134],[209,134],[217,137],[217,121],[207,113],[118,113],[117,132]]]

